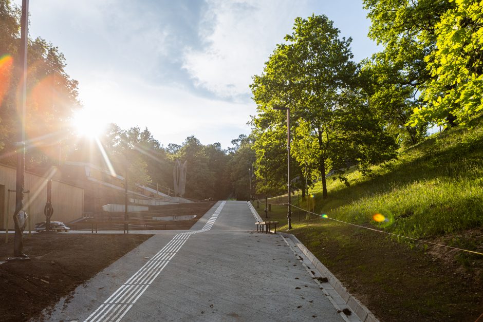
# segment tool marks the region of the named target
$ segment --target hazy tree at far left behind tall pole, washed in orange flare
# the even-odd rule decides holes
[[[0,26],[0,158],[14,164],[19,79],[13,66],[19,54],[20,9],[12,7],[8,0],[0,0]],[[64,55],[40,37],[28,41],[27,59],[26,166],[49,165],[58,158],[59,143],[67,145],[72,141],[65,124],[80,106],[78,83],[65,72]]]

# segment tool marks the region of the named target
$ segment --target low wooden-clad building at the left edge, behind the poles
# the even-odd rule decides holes
[[[44,175],[25,172],[24,209],[30,217],[31,230],[35,223],[45,221],[44,207],[47,202],[47,181],[55,178],[57,168],[52,167]],[[8,227],[13,229],[13,213],[15,212],[15,168],[0,164],[0,228],[5,229],[7,216]],[[8,205],[8,209],[7,209]],[[52,179],[52,221],[69,222],[82,217],[84,213],[84,190],[81,187]],[[28,228],[26,228],[28,230]]]

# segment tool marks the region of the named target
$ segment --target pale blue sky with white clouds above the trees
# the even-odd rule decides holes
[[[42,0],[29,12],[30,36],[58,46],[79,81],[90,126],[147,127],[164,146],[248,135],[251,78],[296,17],[327,15],[357,62],[380,50],[361,0]]]

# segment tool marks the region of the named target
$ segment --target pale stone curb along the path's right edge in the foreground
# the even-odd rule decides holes
[[[340,297],[346,302],[347,306],[356,313],[356,315],[363,322],[379,322],[376,316],[369,311],[361,302],[359,302],[354,296],[347,292],[346,288],[342,285],[341,281],[334,276],[325,266],[320,262],[317,257],[315,257],[305,245],[294,235],[277,232],[277,234],[284,236],[285,238],[290,238],[293,243],[302,251],[302,253],[307,256],[307,258],[312,262],[315,269],[319,271],[322,277],[326,277],[333,287],[333,289],[340,295]]]

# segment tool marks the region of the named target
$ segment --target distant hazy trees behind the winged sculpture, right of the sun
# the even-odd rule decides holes
[[[99,143],[93,140],[78,140],[68,159],[104,168],[108,168],[107,162],[110,162],[117,174],[127,174],[131,188],[135,184],[152,184],[153,187],[169,187],[173,191],[173,169],[178,159],[187,161],[187,198],[248,200],[250,180],[253,180],[254,192],[255,178],[249,177],[249,168],[255,161],[255,152],[253,140],[245,135],[232,140],[233,146],[228,149],[222,149],[220,143],[203,145],[195,136],[187,137],[181,145],[163,147],[147,128],[122,130],[111,124],[98,138]]]

